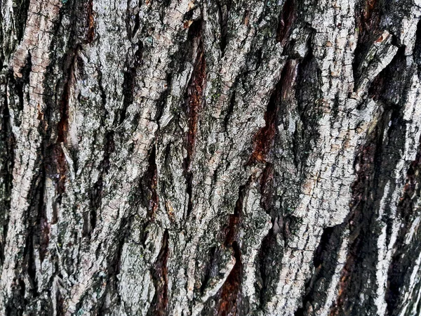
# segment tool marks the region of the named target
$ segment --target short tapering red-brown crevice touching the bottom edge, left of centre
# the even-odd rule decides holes
[[[155,287],[155,295],[147,311],[148,316],[168,315],[168,256],[169,256],[168,230],[163,233],[161,251],[154,263],[152,279]]]

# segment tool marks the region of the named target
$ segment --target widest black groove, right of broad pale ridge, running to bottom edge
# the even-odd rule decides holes
[[[348,298],[357,296],[368,279],[375,283],[375,273],[366,270],[365,267],[375,265],[378,259],[366,254],[377,251],[377,245],[373,240],[376,240],[379,234],[376,227],[376,216],[380,207],[378,200],[382,196],[390,174],[399,163],[400,158],[396,150],[403,146],[402,142],[405,138],[402,105],[399,99],[393,98],[394,95],[390,94],[386,87],[393,86],[396,91],[400,91],[399,94],[406,89],[408,79],[403,73],[406,63],[403,51],[403,48],[399,48],[392,62],[377,75],[369,88],[369,95],[374,100],[380,100],[384,109],[374,131],[368,136],[366,144],[361,147],[354,162],[357,177],[352,185],[351,212],[346,220],[349,223],[348,254],[341,272],[339,294],[330,310],[332,316],[342,315],[351,310],[356,312],[359,308],[366,311],[376,308],[373,303],[373,294],[368,294],[368,298],[359,305],[349,301]],[[389,129],[386,128],[387,124]],[[385,131],[387,131],[386,135]],[[389,286],[390,284],[388,288]],[[388,301],[387,297],[388,294],[386,294],[386,301]],[[389,305],[389,302],[387,303]],[[365,304],[368,305],[362,309]]]

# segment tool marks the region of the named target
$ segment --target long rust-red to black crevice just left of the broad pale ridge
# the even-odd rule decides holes
[[[288,104],[295,99],[295,82],[297,79],[297,60],[288,60],[281,72],[281,79],[272,93],[265,113],[266,125],[255,136],[253,152],[248,164],[251,162],[265,162],[265,169],[260,176],[260,206],[271,216],[272,228],[262,239],[256,263],[258,273],[255,287],[259,292],[260,309],[264,310],[266,303],[274,295],[274,285],[279,275],[280,266],[274,265],[283,256],[282,247],[277,240],[281,235],[285,242],[290,236],[291,228],[299,225],[293,216],[282,218],[279,210],[274,208],[276,199],[276,183],[274,164],[268,162],[272,157],[269,153],[274,146],[276,135],[279,133],[279,117],[287,111]],[[285,115],[286,117],[286,115]]]

